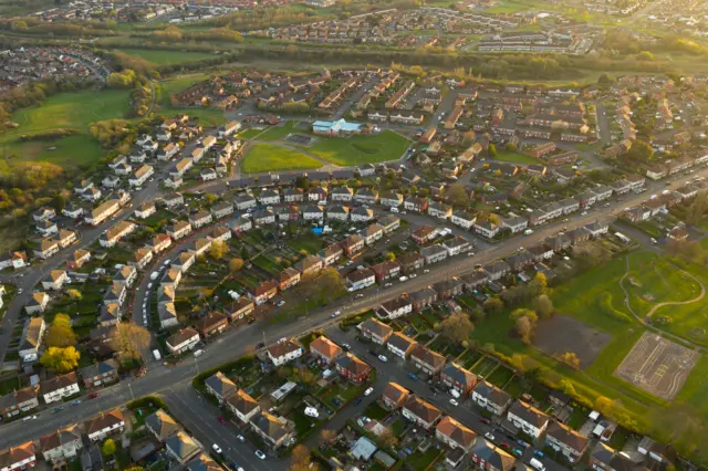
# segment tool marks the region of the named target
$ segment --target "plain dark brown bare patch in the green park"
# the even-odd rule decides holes
[[[610,342],[610,334],[574,317],[555,315],[541,321],[533,345],[549,355],[573,352],[580,359],[580,367],[587,368]]]

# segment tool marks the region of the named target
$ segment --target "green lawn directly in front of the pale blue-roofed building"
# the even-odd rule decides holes
[[[323,137],[308,150],[333,164],[353,166],[396,160],[409,145],[407,137],[384,130],[371,136]]]

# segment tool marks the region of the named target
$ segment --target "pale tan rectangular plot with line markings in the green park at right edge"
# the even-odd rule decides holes
[[[615,370],[615,376],[671,400],[684,386],[698,353],[645,332]]]

